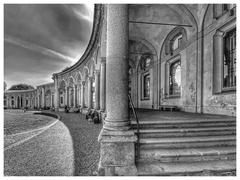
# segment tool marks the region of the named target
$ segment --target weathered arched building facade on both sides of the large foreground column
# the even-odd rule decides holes
[[[226,59],[236,59],[235,47],[229,55],[224,47],[225,41],[236,43],[235,5],[131,4],[128,21],[129,89],[136,108],[174,105],[236,115],[236,61]],[[37,87],[38,107],[104,111],[106,50],[107,6],[98,5],[84,55],[54,73],[54,84]]]

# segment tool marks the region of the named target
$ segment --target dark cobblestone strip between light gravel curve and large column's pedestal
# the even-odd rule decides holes
[[[79,113],[58,113],[61,121],[67,126],[73,140],[74,166],[76,176],[95,175],[99,162],[100,145],[98,135],[102,124],[85,120]]]

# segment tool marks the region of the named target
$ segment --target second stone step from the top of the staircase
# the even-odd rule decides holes
[[[137,133],[137,130],[134,129]],[[172,128],[172,129],[140,129],[140,138],[147,137],[180,137],[180,136],[214,136],[234,135],[236,127],[204,127],[204,128]]]

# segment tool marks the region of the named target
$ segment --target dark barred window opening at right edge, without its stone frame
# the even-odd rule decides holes
[[[223,88],[236,86],[236,29],[224,37]]]

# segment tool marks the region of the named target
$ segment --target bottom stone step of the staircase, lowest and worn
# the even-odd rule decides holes
[[[181,163],[140,162],[139,176],[220,176],[236,175],[236,161],[201,161]]]

